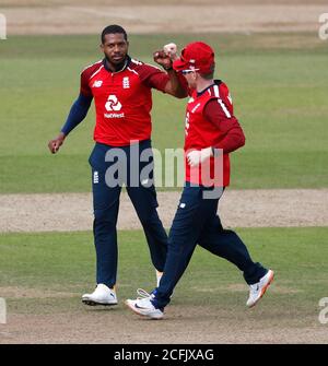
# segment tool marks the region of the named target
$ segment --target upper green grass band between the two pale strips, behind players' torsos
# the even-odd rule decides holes
[[[196,35],[130,37],[151,61],[159,46]],[[234,188],[327,187],[327,44],[316,34],[208,35],[216,76],[230,86],[246,146],[233,157]],[[60,154],[47,141],[79,92],[79,73],[98,60],[97,36],[20,36],[0,43],[0,193],[89,191],[94,110]],[[154,93],[153,146],[181,147],[186,101]]]

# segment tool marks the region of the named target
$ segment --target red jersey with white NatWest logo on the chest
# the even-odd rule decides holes
[[[166,72],[129,57],[118,72],[108,70],[104,60],[85,68],[80,92],[95,101],[94,140],[124,146],[150,139],[151,88],[164,92],[168,80]]]

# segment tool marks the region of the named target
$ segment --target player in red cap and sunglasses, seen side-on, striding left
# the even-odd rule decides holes
[[[186,110],[186,184],[168,235],[164,273],[151,294],[126,300],[138,315],[161,319],[173,291],[185,272],[195,247],[201,247],[234,263],[249,285],[246,305],[255,306],[273,280],[273,271],[255,263],[233,231],[224,229],[216,214],[220,197],[230,184],[229,154],[245,144],[234,116],[227,86],[213,80],[214,51],[204,43],[187,45],[173,67],[183,73],[190,88]],[[209,166],[210,178],[202,168]],[[221,167],[222,174],[213,174]]]

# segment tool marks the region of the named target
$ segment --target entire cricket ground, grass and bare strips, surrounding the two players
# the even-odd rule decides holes
[[[9,319],[0,343],[327,343],[327,326],[318,320],[319,299],[328,295],[324,13],[327,0],[0,0],[7,19],[7,39],[0,39],[0,297]],[[232,154],[223,223],[277,273],[251,312],[241,273],[199,248],[168,321],[141,324],[121,303],[114,311],[81,304],[94,286],[87,163],[94,107],[59,154],[47,143],[79,94],[81,71],[103,57],[99,34],[109,24],[126,28],[130,56],[144,62],[153,63],[153,51],[171,42],[181,49],[203,40],[215,50],[215,78],[229,85],[246,134],[245,147]],[[153,146],[181,147],[186,101],[154,91],[153,102]],[[168,228],[180,188],[163,190],[159,210]],[[120,299],[154,285],[126,196],[118,225]]]

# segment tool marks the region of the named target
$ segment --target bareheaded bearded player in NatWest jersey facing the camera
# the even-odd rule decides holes
[[[157,281],[166,259],[167,235],[157,215],[155,188],[150,179],[140,177],[152,156],[149,162],[141,162],[140,156],[151,150],[152,88],[183,98],[188,95],[187,84],[173,70],[172,60],[165,54],[154,56],[155,61],[165,68],[162,71],[132,59],[128,48],[127,33],[121,26],[104,28],[101,44],[104,58],[82,71],[80,95],[59,135],[48,143],[50,152],[57,153],[67,135],[85,118],[94,99],[95,146],[89,162],[92,167],[96,288],[82,296],[82,302],[91,306],[117,304],[116,224],[122,184],[143,227]],[[108,176],[115,165],[119,170],[118,181],[115,175]],[[133,176],[131,172],[134,172]]]

